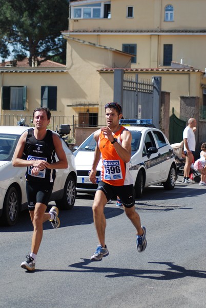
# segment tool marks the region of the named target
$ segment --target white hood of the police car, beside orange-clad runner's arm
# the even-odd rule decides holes
[[[76,170],[90,170],[94,160],[94,151],[79,151],[75,157]],[[100,170],[101,160],[98,168]]]

